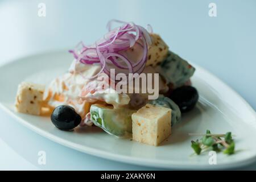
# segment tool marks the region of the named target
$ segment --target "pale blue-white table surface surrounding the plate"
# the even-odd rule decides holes
[[[38,16],[38,4],[46,17]],[[217,5],[210,18],[208,5]],[[0,65],[38,52],[93,43],[110,19],[150,23],[170,49],[208,69],[256,109],[256,1],[1,1]],[[0,169],[147,170],[54,143],[0,110]],[[46,165],[38,164],[46,151]],[[240,169],[256,169],[256,162]]]

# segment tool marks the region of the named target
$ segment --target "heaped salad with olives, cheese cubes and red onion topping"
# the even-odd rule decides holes
[[[47,85],[20,83],[16,110],[50,116],[63,131],[96,126],[158,146],[199,99],[195,68],[149,25],[110,20],[107,28],[95,43],[69,50],[74,58],[63,75]]]

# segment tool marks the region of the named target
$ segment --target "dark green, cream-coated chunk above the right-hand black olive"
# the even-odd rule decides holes
[[[167,84],[172,84],[174,88],[184,85],[195,72],[192,65],[171,51],[155,69],[165,78]]]

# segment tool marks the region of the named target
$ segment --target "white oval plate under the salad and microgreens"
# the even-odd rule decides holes
[[[67,51],[48,52],[25,57],[0,67],[0,105],[17,121],[57,143],[101,158],[142,166],[174,169],[223,169],[243,166],[256,159],[256,114],[236,92],[215,76],[195,65],[193,85],[199,90],[196,108],[183,114],[182,122],[172,129],[172,135],[161,146],[154,147],[118,139],[97,127],[77,127],[67,132],[56,129],[48,117],[16,113],[14,100],[21,81],[46,84],[67,71],[72,56]],[[236,154],[217,154],[217,165],[210,165],[208,152],[192,155],[188,133],[236,134]]]

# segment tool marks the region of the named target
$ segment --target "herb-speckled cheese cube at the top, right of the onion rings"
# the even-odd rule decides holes
[[[154,67],[166,58],[169,47],[158,34],[151,34],[151,39],[152,44],[148,46],[146,66]]]

